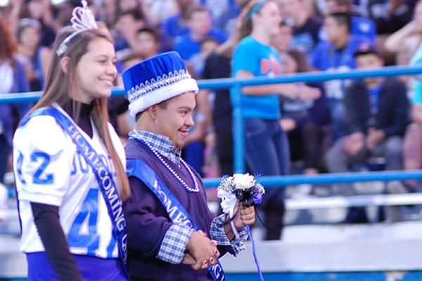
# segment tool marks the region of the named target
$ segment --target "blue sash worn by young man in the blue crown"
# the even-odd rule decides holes
[[[160,200],[173,223],[184,223],[189,228],[196,231],[199,230],[195,223],[193,223],[191,216],[189,216],[186,209],[184,209],[179,200],[177,200],[169,188],[167,188],[165,183],[161,181],[158,175],[155,174],[153,169],[138,159],[127,159],[126,167],[127,176],[135,176],[148,186],[158,200]],[[214,266],[208,267],[208,272],[215,281],[226,280],[223,268],[218,260]]]

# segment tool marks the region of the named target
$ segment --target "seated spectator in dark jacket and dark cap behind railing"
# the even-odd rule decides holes
[[[381,55],[369,44],[359,46],[354,58],[362,70],[384,65]],[[366,164],[369,157],[385,158],[385,170],[402,169],[402,137],[409,120],[406,85],[383,77],[354,81],[346,89],[345,108],[348,134],[328,150],[328,171],[350,171],[356,164]],[[358,213],[350,211],[346,222],[366,221],[362,211]]]

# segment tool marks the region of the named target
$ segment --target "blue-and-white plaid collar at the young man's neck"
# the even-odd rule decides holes
[[[131,138],[140,138],[142,141],[151,145],[160,155],[167,157],[171,162],[180,166],[181,149],[175,148],[174,143],[170,141],[170,138],[167,138],[167,136],[162,136],[150,131],[137,130],[132,130],[129,133],[129,136]]]

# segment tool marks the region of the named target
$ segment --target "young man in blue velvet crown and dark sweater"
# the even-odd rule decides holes
[[[212,280],[206,268],[220,254],[243,249],[245,225],[255,222],[255,210],[239,207],[234,239],[228,218],[209,211],[200,177],[180,157],[193,126],[198,85],[178,53],[144,60],[124,72],[123,80],[136,117],[126,148],[133,192],[124,203],[129,275],[132,280]]]

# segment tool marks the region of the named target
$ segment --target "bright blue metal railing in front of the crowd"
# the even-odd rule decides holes
[[[244,133],[243,116],[241,109],[241,87],[257,86],[264,84],[282,84],[295,82],[315,82],[335,79],[362,79],[365,77],[392,77],[397,75],[422,74],[422,66],[413,67],[381,67],[377,70],[349,70],[347,72],[307,72],[301,74],[284,75],[281,77],[255,77],[253,79],[208,79],[199,80],[200,89],[231,89],[234,95],[233,117],[234,117],[234,171],[243,173],[245,171],[244,157]],[[124,96],[123,89],[113,89],[113,96]],[[30,93],[6,93],[0,94],[2,103],[25,103],[38,100],[41,92]],[[329,174],[320,176],[267,176],[262,177],[262,183],[270,185],[289,185],[299,183],[345,183],[352,181],[387,181],[392,179],[422,179],[422,171],[385,171],[370,172],[365,174],[345,173]],[[207,179],[204,181],[207,186],[216,186],[219,179]]]

